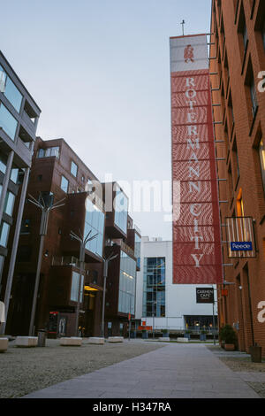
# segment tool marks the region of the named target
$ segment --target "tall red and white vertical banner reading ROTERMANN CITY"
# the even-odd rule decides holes
[[[173,283],[218,284],[223,267],[207,35],[170,38],[170,76]]]

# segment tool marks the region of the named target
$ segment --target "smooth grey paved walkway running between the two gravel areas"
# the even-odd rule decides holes
[[[148,354],[25,397],[259,398],[238,374],[225,366],[205,345],[192,343],[165,344],[163,348]]]

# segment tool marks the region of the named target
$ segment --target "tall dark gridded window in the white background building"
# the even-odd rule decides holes
[[[165,258],[145,258],[143,316],[165,316]]]

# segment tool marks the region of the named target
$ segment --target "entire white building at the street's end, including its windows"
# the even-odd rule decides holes
[[[136,320],[171,331],[217,324],[217,304],[197,304],[196,289],[209,285],[176,285],[172,281],[172,242],[142,237],[137,273]],[[216,286],[214,288],[216,301]]]

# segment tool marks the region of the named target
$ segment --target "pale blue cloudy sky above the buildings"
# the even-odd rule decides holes
[[[100,181],[119,182],[142,235],[171,240],[169,197],[167,212],[145,212],[135,197],[142,181],[170,183],[169,38],[183,19],[185,35],[209,33],[210,11],[211,0],[1,7],[0,50],[42,109],[37,135],[64,138]]]

